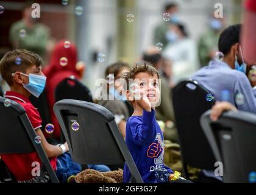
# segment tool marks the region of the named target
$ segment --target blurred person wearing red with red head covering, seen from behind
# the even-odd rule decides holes
[[[63,57],[66,59],[63,60]],[[49,111],[52,124],[54,125],[55,138],[60,139],[60,126],[57,118],[54,115],[53,105],[55,103],[54,91],[57,85],[67,77],[74,76],[77,80],[82,79],[84,74],[85,64],[77,62],[77,49],[74,43],[68,43],[65,40],[59,41],[51,55],[51,60],[48,66],[43,69],[46,80],[46,95],[48,97]],[[87,165],[90,169],[97,171],[110,171],[105,165]]]

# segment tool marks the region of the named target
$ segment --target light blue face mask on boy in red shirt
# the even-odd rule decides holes
[[[43,92],[45,83],[46,83],[46,77],[37,75],[37,74],[24,74],[21,73],[24,76],[29,77],[29,83],[23,84],[23,87],[29,91],[31,94],[33,94],[35,97],[39,97],[40,94]],[[14,75],[14,73],[12,74]]]

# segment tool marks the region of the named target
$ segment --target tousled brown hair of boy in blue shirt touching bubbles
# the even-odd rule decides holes
[[[153,66],[148,65],[145,62],[141,64],[136,64],[130,71],[125,71],[122,74],[123,79],[126,80],[127,90],[129,90],[129,79],[134,79],[138,73],[148,73],[151,76],[154,76],[156,74],[158,79],[160,77],[157,69],[155,69]]]

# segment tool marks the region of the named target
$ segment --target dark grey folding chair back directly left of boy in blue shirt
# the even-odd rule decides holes
[[[81,164],[124,163],[136,182],[143,182],[132,155],[107,108],[91,102],[65,99],[55,103],[54,113],[74,161]]]

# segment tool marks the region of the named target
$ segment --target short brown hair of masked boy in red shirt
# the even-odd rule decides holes
[[[18,61],[17,61],[18,59]],[[0,61],[0,73],[9,86],[13,85],[12,73],[19,71],[26,73],[27,68],[30,66],[41,66],[43,60],[34,52],[27,51],[26,49],[15,49],[7,52]]]

